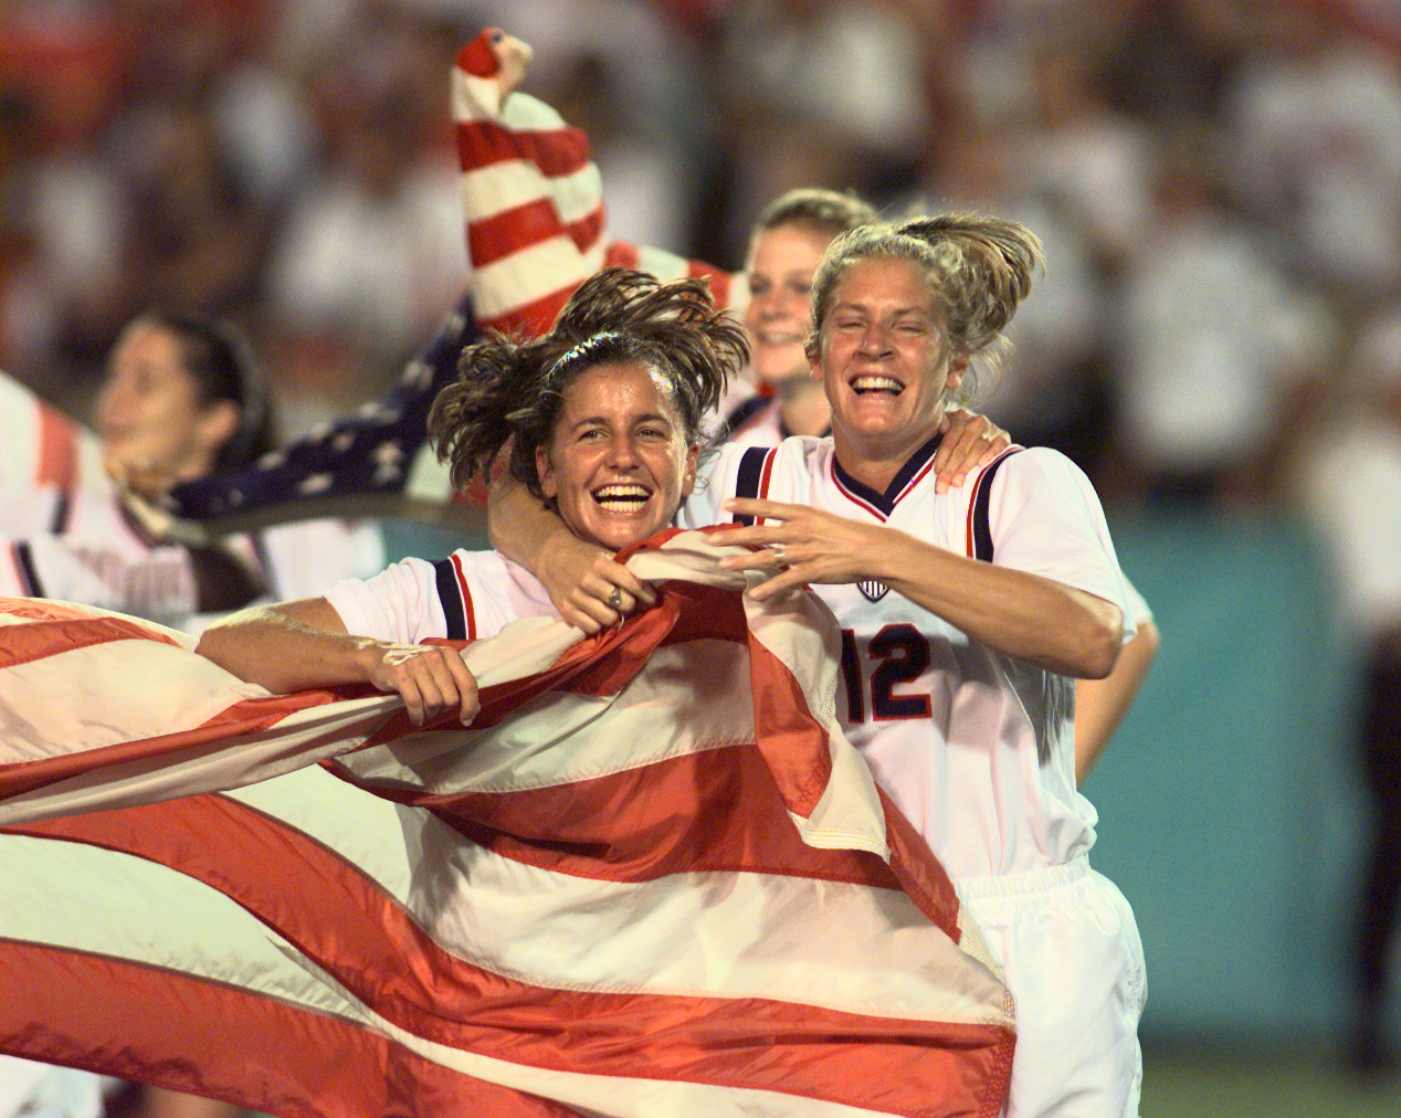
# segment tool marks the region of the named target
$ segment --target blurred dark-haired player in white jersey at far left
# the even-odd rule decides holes
[[[266,387],[231,324],[151,311],[122,332],[97,398],[106,478],[39,486],[6,525],[0,593],[99,605],[174,628],[382,565],[378,530],[339,520],[207,546],[163,544],[126,495],[237,471],[273,448]],[[111,479],[111,481],[109,481]],[[303,593],[305,593],[303,590]]]

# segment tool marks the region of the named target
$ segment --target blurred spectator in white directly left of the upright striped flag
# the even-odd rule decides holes
[[[310,76],[325,157],[269,259],[289,436],[378,395],[467,276],[457,170],[441,143],[453,52],[436,25],[408,17],[385,18],[366,49],[359,36],[336,43]],[[436,77],[432,105],[423,71]]]

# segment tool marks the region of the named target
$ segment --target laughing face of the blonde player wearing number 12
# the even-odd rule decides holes
[[[948,361],[941,314],[922,269],[871,258],[846,268],[828,301],[813,354],[832,405],[838,458],[904,462],[939,429],[964,360]]]

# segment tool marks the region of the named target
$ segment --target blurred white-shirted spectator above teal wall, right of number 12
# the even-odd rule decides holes
[[[1258,502],[1338,325],[1223,205],[1213,151],[1194,133],[1167,154],[1122,276],[1117,447],[1150,497]]]

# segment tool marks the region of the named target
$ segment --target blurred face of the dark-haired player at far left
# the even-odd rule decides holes
[[[213,469],[238,427],[230,401],[203,401],[177,336],[153,322],[129,326],[97,398],[97,430],[108,460],[129,471],[193,481]]]

